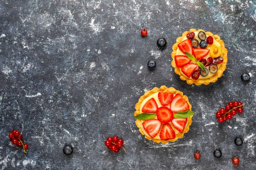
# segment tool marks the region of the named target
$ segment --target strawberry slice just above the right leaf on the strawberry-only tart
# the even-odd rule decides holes
[[[183,99],[183,97],[180,94],[176,94],[173,97],[170,109],[175,113],[179,111],[186,111],[189,109],[189,104],[186,102],[186,100]]]

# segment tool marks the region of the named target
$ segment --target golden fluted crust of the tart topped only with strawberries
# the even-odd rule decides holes
[[[157,93],[157,92],[166,92],[166,93],[172,93],[172,94],[180,94],[184,99],[185,101],[189,104],[189,110],[191,110],[192,106],[191,104],[189,103],[189,98],[186,96],[186,95],[183,95],[183,93],[181,91],[178,91],[176,90],[175,88],[173,87],[166,87],[166,86],[161,86],[160,88],[157,88],[157,87],[154,87],[152,90],[150,91],[146,91],[144,93],[143,96],[139,97],[139,101],[138,103],[135,105],[135,113],[134,113],[134,116],[137,116],[139,115],[139,109],[141,107],[141,103],[144,101],[144,99],[146,99],[146,97],[149,97],[150,95],[154,94],[154,93]],[[159,143],[159,142],[162,142],[163,144],[166,144],[168,143],[168,141],[171,141],[171,142],[174,142],[176,141],[177,139],[179,138],[182,138],[184,136],[184,133],[188,132],[189,131],[189,126],[192,124],[192,116],[188,117],[188,124],[187,126],[184,128],[184,131],[182,133],[178,133],[176,134],[176,137],[174,139],[169,139],[167,141],[165,140],[161,140],[161,139],[155,139],[155,138],[151,138],[151,137],[147,137],[144,132],[141,130],[141,120],[137,119],[136,120],[136,126],[139,128],[139,132],[142,134],[142,135],[145,135],[145,138],[148,139],[148,140],[152,140],[154,141],[155,143]]]

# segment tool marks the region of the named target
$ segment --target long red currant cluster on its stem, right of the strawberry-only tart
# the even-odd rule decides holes
[[[220,111],[216,113],[216,117],[218,117],[218,121],[222,123],[227,119],[232,119],[236,112],[243,113],[243,104],[242,102],[229,102],[225,108],[221,108]]]

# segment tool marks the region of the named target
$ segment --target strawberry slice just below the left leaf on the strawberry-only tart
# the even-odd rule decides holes
[[[149,119],[142,123],[143,128],[146,130],[148,135],[152,138],[156,137],[160,128],[161,128],[161,121],[157,119]]]

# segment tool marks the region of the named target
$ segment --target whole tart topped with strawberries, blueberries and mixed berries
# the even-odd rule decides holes
[[[218,35],[204,30],[190,29],[173,45],[174,72],[187,84],[214,83],[226,70],[227,49]]]

